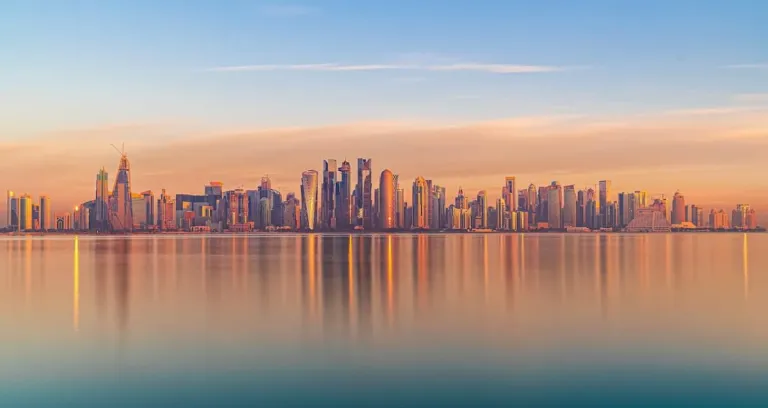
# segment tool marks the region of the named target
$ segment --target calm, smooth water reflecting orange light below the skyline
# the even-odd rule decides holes
[[[0,240],[3,406],[767,406],[768,235]]]

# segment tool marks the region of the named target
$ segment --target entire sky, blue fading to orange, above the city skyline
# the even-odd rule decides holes
[[[765,214],[765,21],[758,0],[8,0],[0,189],[72,208],[125,143],[156,195],[298,192],[370,157],[450,196],[611,179]]]

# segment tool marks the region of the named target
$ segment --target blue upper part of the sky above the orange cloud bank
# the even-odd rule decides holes
[[[5,1],[0,137],[740,105],[768,93],[765,21],[757,0]],[[468,64],[557,70],[425,68]],[[254,65],[277,67],[214,70]]]

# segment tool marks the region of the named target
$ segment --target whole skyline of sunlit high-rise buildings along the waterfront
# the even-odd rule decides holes
[[[610,180],[576,189],[557,181],[546,186],[518,188],[506,177],[501,196],[489,202],[486,191],[465,195],[460,187],[448,201],[446,189],[424,177],[400,180],[386,169],[374,178],[371,159],[357,160],[356,173],[346,160],[323,161],[321,172],[301,174],[299,193],[285,196],[263,177],[253,190],[226,190],[211,182],[202,194],[159,197],[151,191],[135,193],[131,168],[121,153],[117,176],[109,188],[102,168],[96,175],[94,199],[73,212],[54,213],[51,202],[39,204],[28,195],[8,192],[8,223],[14,231],[352,231],[352,230],[456,230],[456,231],[630,231],[755,230],[757,216],[747,204],[729,214],[722,209],[705,213],[686,204],[679,192],[667,198],[645,191],[615,194]],[[494,205],[495,204],[495,205]],[[705,215],[706,214],[706,215]]]

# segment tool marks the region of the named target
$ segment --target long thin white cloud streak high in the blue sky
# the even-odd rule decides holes
[[[243,71],[385,71],[385,70],[411,70],[411,71],[474,71],[493,74],[528,74],[542,72],[556,72],[573,69],[573,67],[558,67],[550,65],[518,65],[518,64],[481,64],[462,63],[446,65],[401,65],[401,64],[267,64],[267,65],[233,65],[209,68],[212,72],[243,72]]]

